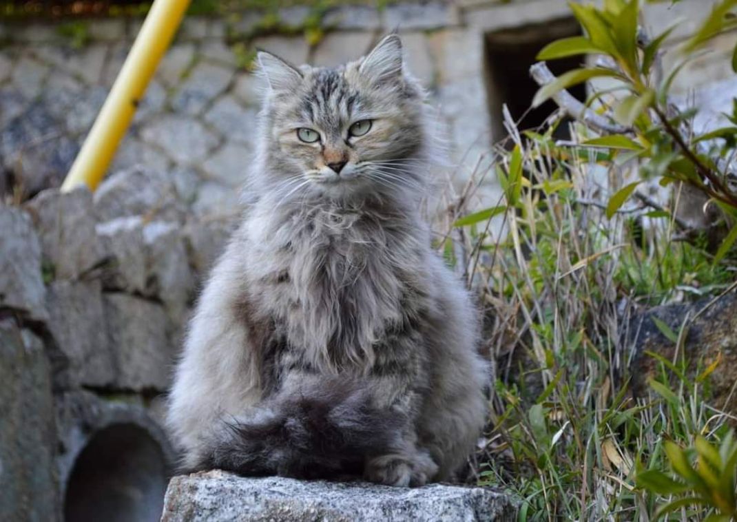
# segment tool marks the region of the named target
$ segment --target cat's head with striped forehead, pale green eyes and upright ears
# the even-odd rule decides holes
[[[284,187],[285,197],[386,193],[417,184],[422,91],[402,71],[397,35],[336,69],[296,69],[265,52],[259,63],[270,87],[269,183]]]

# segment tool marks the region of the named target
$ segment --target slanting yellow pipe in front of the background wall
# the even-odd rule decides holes
[[[154,0],[82,150],[66,175],[61,186],[63,192],[81,184],[94,190],[102,181],[158,62],[181,24],[189,1]]]

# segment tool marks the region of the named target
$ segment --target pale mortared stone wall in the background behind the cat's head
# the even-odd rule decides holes
[[[693,25],[705,13],[703,3],[648,7],[646,26],[657,31],[682,15]],[[502,137],[492,136],[491,129],[500,133],[504,100],[496,100],[495,89],[506,80],[503,70],[492,74],[486,63],[486,38],[565,18],[570,18],[565,0],[392,3],[383,10],[346,6],[327,11],[319,22],[306,7],[282,10],[277,21],[251,12],[186,18],[140,102],[111,172],[146,164],[170,173],[198,215],[227,214],[237,203],[234,188],[242,183],[256,141],[258,85],[245,68],[252,49],[268,49],[294,63],[334,65],[362,55],[385,32],[397,29],[409,68],[439,107],[439,129],[450,144],[455,176],[463,181],[479,156]],[[0,23],[0,160],[5,171],[0,193],[10,192],[14,182],[26,194],[60,183],[141,23],[123,18],[77,22],[84,36],[78,48],[63,35],[69,34],[64,24]],[[721,109],[730,100],[719,82],[731,77],[732,42],[731,35],[718,39],[711,52],[686,69],[677,90],[706,86],[711,94],[702,101]],[[715,89],[722,96],[715,96]]]

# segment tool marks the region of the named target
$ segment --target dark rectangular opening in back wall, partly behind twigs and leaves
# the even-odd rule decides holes
[[[539,127],[556,110],[553,102],[547,102],[536,109],[530,108],[539,87],[530,77],[530,66],[537,61],[535,57],[540,49],[551,41],[580,34],[579,24],[573,19],[565,18],[546,24],[505,29],[486,36],[487,88],[495,142],[507,134],[503,124],[503,104],[506,103],[509,107],[514,121],[519,122],[520,130]],[[559,76],[579,68],[581,63],[583,58],[574,56],[552,60],[548,62],[548,67],[553,74]],[[569,91],[577,99],[586,100],[584,84],[570,88]],[[568,125],[564,122],[559,126],[556,138],[568,137]]]

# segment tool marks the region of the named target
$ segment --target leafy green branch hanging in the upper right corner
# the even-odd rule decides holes
[[[611,118],[617,125],[612,125],[609,132],[584,140],[581,146],[610,150],[612,157],[621,163],[637,159],[641,174],[639,180],[626,184],[609,198],[607,214],[611,216],[621,208],[648,178],[659,179],[663,187],[686,184],[705,194],[710,203],[722,210],[722,219],[729,223],[730,232],[715,255],[715,260],[722,259],[737,241],[734,225],[737,189],[733,186],[730,161],[725,159],[736,141],[737,113],[729,116],[730,126],[697,133],[689,125],[693,114],[673,111],[668,97],[675,77],[694,58],[695,51],[722,32],[737,27],[734,13],[737,1],[724,0],[714,7],[701,27],[682,45],[680,63],[664,76],[657,64],[663,44],[675,26],[652,40],[648,38],[638,26],[639,0],[607,0],[601,8],[581,4],[570,4],[570,7],[585,35],[551,43],[539,53],[539,60],[572,55],[598,55],[606,59],[598,60],[595,66],[567,72],[542,86],[533,105],[577,83],[599,77],[615,80],[615,88],[595,92],[590,103],[601,102],[605,108],[611,108]],[[735,57],[733,67],[737,68],[737,48]],[[621,94],[609,107],[605,98],[612,91]]]

